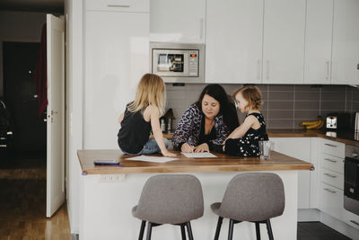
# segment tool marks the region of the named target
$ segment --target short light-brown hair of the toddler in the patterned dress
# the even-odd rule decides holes
[[[246,85],[236,90],[232,97],[235,99],[235,96],[241,93],[243,98],[248,102],[246,108],[250,107],[250,109],[260,110],[260,107],[263,105],[262,101],[262,93],[260,93],[257,86],[254,85]]]

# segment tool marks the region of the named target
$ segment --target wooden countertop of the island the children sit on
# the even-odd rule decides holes
[[[187,158],[178,154],[178,160],[167,163],[151,163],[127,160],[120,150],[79,150],[83,174],[121,173],[199,173],[199,172],[241,172],[241,171],[297,171],[311,170],[313,165],[275,151],[268,160],[259,157],[238,157],[214,153],[216,158]],[[156,156],[156,155],[153,155]],[[160,155],[157,155],[160,156]],[[95,166],[94,160],[118,159],[123,166]]]

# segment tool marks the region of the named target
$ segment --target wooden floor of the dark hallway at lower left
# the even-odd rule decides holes
[[[46,218],[46,164],[0,158],[0,239],[71,239],[66,205]],[[20,163],[20,164],[19,164]],[[41,164],[39,164],[41,163]]]

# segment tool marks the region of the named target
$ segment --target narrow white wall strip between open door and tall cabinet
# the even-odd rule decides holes
[[[79,233],[77,150],[83,148],[83,1],[65,0],[66,17],[66,199],[72,234]]]

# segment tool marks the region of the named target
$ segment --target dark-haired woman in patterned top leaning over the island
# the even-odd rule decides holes
[[[185,153],[221,150],[238,125],[237,111],[223,87],[209,84],[182,114],[172,137],[173,147]]]

